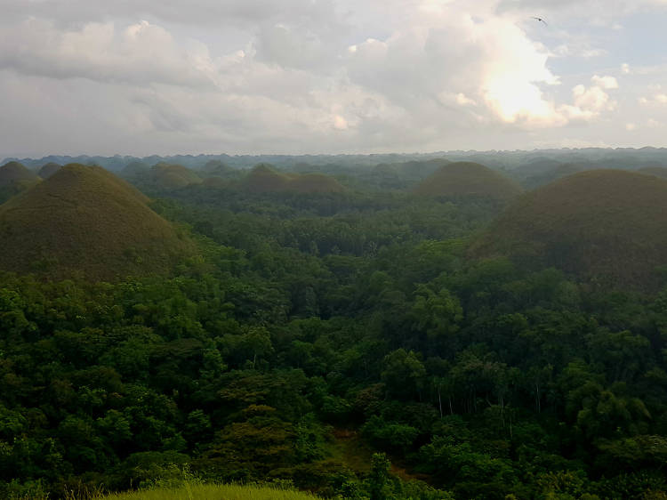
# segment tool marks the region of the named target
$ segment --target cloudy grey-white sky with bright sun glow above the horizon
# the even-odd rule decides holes
[[[0,12],[0,157],[667,146],[667,0]]]

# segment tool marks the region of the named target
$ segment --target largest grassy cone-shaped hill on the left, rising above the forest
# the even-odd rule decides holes
[[[166,272],[191,244],[148,201],[103,168],[66,165],[0,206],[0,269],[106,280]]]

